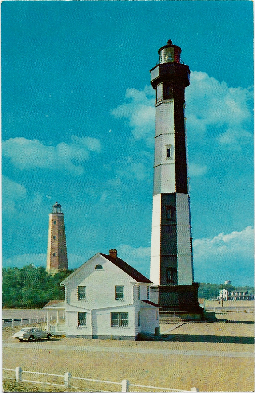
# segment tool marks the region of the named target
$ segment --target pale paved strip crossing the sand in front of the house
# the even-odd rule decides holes
[[[185,349],[153,349],[153,348],[118,348],[118,347],[86,347],[85,345],[61,345],[49,342],[19,342],[3,343],[3,348],[50,349],[63,351],[88,351],[88,352],[117,352],[117,353],[151,353],[159,355],[185,355],[185,356],[216,356],[226,358],[254,358],[253,352],[231,351],[190,351]]]

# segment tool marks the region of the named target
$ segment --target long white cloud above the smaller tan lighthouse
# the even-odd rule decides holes
[[[56,146],[44,145],[39,140],[10,138],[2,142],[4,157],[19,169],[67,170],[80,175],[84,171],[82,163],[89,160],[90,152],[100,152],[100,141],[89,136],[71,136],[71,142],[61,142]]]

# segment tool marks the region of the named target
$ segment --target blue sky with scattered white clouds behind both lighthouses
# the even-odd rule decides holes
[[[96,252],[150,275],[155,91],[171,39],[185,90],[195,281],[253,285],[253,3],[4,1],[3,266],[46,266],[65,213],[69,268]]]

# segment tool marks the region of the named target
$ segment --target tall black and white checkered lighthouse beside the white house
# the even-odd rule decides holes
[[[190,70],[181,64],[180,54],[181,48],[169,40],[159,49],[159,64],[150,70],[156,90],[150,280],[152,299],[161,311],[201,318],[193,273],[184,113]]]

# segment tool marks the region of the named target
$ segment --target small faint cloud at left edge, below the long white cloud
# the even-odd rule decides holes
[[[26,198],[26,188],[7,176],[2,175],[2,210],[3,212],[16,213],[15,204]]]

